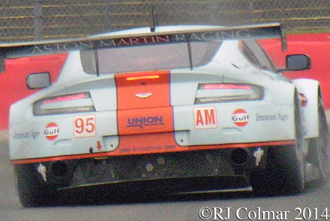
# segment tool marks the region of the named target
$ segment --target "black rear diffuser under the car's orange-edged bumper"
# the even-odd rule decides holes
[[[266,167],[268,148],[129,155],[28,165],[34,167],[41,182],[55,184],[57,189],[110,184],[120,193],[133,189],[159,194],[242,191],[252,189],[249,177],[253,171]],[[257,160],[256,153],[261,152]],[[45,177],[40,169],[38,171],[40,166],[45,168]],[[117,185],[123,188],[115,188]]]

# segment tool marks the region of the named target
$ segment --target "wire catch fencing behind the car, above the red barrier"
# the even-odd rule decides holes
[[[1,0],[0,43],[83,37],[127,28],[281,22],[330,28],[329,0]]]

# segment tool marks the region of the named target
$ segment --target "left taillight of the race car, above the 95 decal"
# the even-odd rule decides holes
[[[34,115],[52,115],[95,111],[89,92],[61,95],[37,101],[33,105]]]

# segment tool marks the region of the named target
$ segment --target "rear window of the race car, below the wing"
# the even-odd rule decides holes
[[[89,74],[123,73],[202,66],[210,62],[221,42],[191,42],[191,59],[187,43],[135,46],[82,51],[84,71]],[[97,56],[96,56],[97,54]]]

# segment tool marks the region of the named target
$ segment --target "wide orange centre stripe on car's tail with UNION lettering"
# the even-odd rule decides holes
[[[123,135],[173,131],[169,71],[115,75],[119,144]]]

